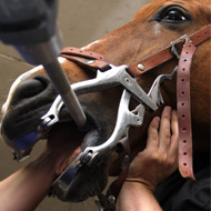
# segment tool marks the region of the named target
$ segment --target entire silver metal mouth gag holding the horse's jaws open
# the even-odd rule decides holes
[[[123,147],[127,158],[129,157],[128,132],[130,127],[139,127],[142,124],[145,109],[155,111],[158,107],[163,103],[160,84],[163,80],[172,79],[177,71],[175,68],[171,74],[159,76],[151,86],[150,91],[145,93],[138,84],[135,78],[132,78],[128,73],[127,69],[128,66],[115,67],[110,64],[110,69],[104,72],[98,70],[94,79],[77,82],[71,86],[77,94],[102,91],[117,86],[122,86],[124,89],[119,103],[115,127],[111,137],[100,145],[87,147],[52,184],[53,193],[59,199],[66,201],[70,192],[71,182],[77,172],[80,171],[80,168],[83,165],[91,165],[97,157],[99,158],[105,153],[115,151],[118,144]],[[131,98],[138,102],[138,105],[132,111],[129,110]],[[47,134],[52,125],[60,122],[59,114],[62,107],[63,101],[61,97],[58,96],[49,111],[41,118],[41,123],[37,128],[39,137]],[[26,137],[23,139],[24,142],[29,142],[28,145],[30,145],[32,140],[28,140]],[[20,142],[21,138],[18,141]],[[34,141],[36,140],[33,140],[33,142]],[[24,151],[21,151],[19,157],[21,158],[23,154]],[[125,157],[123,159],[125,159]]]

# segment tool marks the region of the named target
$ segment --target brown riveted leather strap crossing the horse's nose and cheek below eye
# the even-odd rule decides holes
[[[192,43],[194,46],[200,44],[201,42],[205,41],[208,38],[211,37],[211,24],[208,24],[200,31],[193,33],[190,36],[190,39],[192,40]],[[182,42],[177,44],[177,48],[181,48]],[[97,71],[100,69],[101,71],[105,71],[110,69],[109,63],[107,62],[105,58],[99,53],[94,53],[91,51],[84,51],[78,48],[68,47],[62,49],[61,57],[64,57],[71,61],[77,62],[81,67],[86,67],[88,69],[91,69],[92,71]],[[162,51],[138,62],[128,68],[128,72],[132,77],[139,77],[149,70],[171,60],[174,58],[174,56],[171,52],[171,46],[163,49]],[[139,64],[142,66],[142,70],[140,70]]]

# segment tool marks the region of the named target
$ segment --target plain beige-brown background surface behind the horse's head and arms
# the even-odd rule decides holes
[[[59,26],[63,47],[82,47],[131,20],[132,14],[150,0],[62,0],[59,8]],[[0,43],[0,107],[12,81],[31,66],[22,61],[12,47]],[[0,180],[33,160],[44,143],[38,143],[30,159],[21,163],[12,160],[11,149],[0,141]],[[44,199],[37,211],[98,210],[93,200],[70,204],[57,199]]]

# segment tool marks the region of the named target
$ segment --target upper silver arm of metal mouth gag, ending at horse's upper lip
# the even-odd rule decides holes
[[[110,64],[110,69],[104,72],[98,70],[94,79],[73,83],[71,88],[77,94],[83,94],[123,86],[138,103],[144,104],[149,110],[157,110],[157,103],[142,90],[137,80],[128,73],[127,68],[127,66],[115,67]],[[41,123],[38,125],[37,130],[14,140],[14,158],[17,160],[21,160],[22,157],[28,155],[30,145],[44,137],[51,127],[60,121],[59,113],[62,107],[62,98],[58,96],[49,111],[41,118]]]

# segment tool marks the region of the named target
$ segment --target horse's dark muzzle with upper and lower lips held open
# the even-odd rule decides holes
[[[29,86],[31,86],[31,89],[29,89]],[[28,90],[30,90],[30,92],[28,92]],[[32,90],[33,92],[31,93]],[[56,133],[66,134],[70,140],[72,140],[71,134],[77,133],[78,135],[74,137],[74,140],[78,142],[78,151],[83,151],[87,147],[99,145],[109,138],[114,122],[111,123],[110,119],[108,119],[110,115],[104,112],[101,104],[97,101],[92,101],[90,96],[79,97],[88,119],[89,130],[84,132],[79,131],[66,107],[62,107],[59,113],[61,121],[53,125],[47,133],[37,133],[38,125],[40,125],[42,121],[41,118],[50,109],[56,97],[57,93],[46,77],[37,76],[21,83],[12,94],[10,107],[3,114],[1,122],[2,140],[16,151],[20,151],[20,154],[24,157],[30,154],[32,147],[38,140],[49,139],[50,141],[51,134]],[[72,127],[72,124],[74,124],[74,127]],[[58,131],[57,129],[59,127],[61,130]],[[63,129],[67,127],[70,128],[64,131]],[[83,135],[81,135],[81,133],[83,133]],[[31,141],[31,137],[34,140]],[[30,138],[30,142],[26,145],[24,141],[28,138]],[[76,141],[70,145],[73,157],[76,155]],[[99,160],[99,162],[93,163],[91,167],[84,165],[79,170],[71,182],[69,194],[66,199],[61,200],[83,201],[89,197],[98,195],[102,192],[107,185],[109,159],[108,155],[103,155]]]

